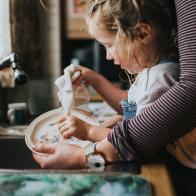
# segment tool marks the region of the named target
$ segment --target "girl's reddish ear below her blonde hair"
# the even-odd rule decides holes
[[[138,41],[143,44],[149,43],[152,38],[151,27],[145,23],[139,23],[135,27],[135,36]]]

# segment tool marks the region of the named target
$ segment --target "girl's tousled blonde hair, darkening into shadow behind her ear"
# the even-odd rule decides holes
[[[86,20],[116,33],[123,46],[130,40],[134,42],[136,25],[146,23],[156,29],[160,56],[170,54],[176,47],[175,5],[171,0],[90,0]],[[129,50],[127,47],[127,55]]]

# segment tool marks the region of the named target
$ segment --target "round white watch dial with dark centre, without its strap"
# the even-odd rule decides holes
[[[90,169],[104,169],[105,160],[101,155],[89,155],[87,158],[87,166]]]

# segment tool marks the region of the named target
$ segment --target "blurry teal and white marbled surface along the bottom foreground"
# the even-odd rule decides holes
[[[85,174],[0,174],[1,196],[151,196],[139,176]]]

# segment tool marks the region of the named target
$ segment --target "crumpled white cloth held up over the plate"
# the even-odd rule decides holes
[[[76,65],[71,64],[64,70],[64,75],[55,81],[58,87],[58,98],[66,114],[70,114],[73,107],[78,107],[90,101],[90,94],[84,84],[74,86],[72,81],[80,75]]]

